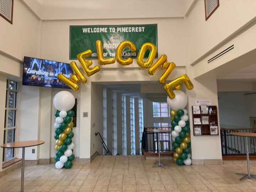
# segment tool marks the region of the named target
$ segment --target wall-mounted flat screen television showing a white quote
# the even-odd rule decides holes
[[[68,63],[24,57],[22,85],[70,89],[68,85],[57,79],[59,73],[70,79],[72,68]]]

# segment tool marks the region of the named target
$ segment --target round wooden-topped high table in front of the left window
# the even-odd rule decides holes
[[[25,159],[25,147],[36,146],[43,144],[44,141],[32,140],[32,141],[21,141],[2,144],[2,148],[22,148],[22,164],[21,164],[21,192],[23,192],[24,187],[24,159]]]

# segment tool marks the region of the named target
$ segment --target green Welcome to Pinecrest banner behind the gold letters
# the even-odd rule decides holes
[[[123,50],[123,58],[136,58],[140,47],[144,43],[153,43],[158,48],[157,24],[151,25],[94,25],[70,26],[69,28],[69,59],[77,59],[78,53],[88,49],[92,55],[87,58],[97,58],[95,42],[102,42],[105,58],[116,57],[116,49],[122,41],[131,41],[136,46],[136,52],[131,52],[128,47]],[[148,57],[147,50],[144,57]],[[158,58],[158,52],[156,57]]]

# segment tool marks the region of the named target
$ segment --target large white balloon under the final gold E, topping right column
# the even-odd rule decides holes
[[[175,97],[171,99],[167,96],[167,104],[172,110],[178,111],[187,105],[187,96],[181,90],[174,90]]]

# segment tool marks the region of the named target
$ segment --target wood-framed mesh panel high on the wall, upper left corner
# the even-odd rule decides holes
[[[12,24],[14,0],[0,0],[0,15]]]

